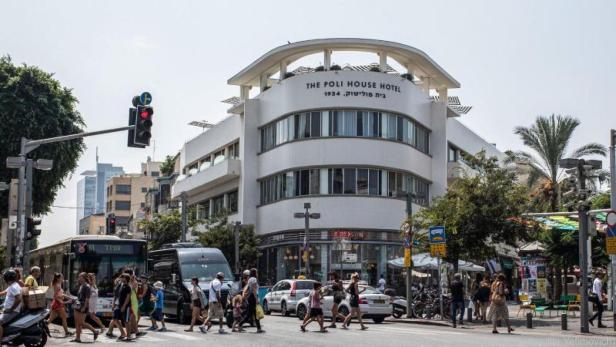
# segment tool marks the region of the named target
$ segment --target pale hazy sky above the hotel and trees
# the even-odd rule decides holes
[[[88,130],[122,126],[132,95],[154,96],[156,149],[126,135],[89,138],[55,205],[76,205],[79,173],[100,159],[139,171],[215,122],[237,95],[227,79],[287,41],[362,37],[428,53],[461,82],[473,110],[461,121],[502,149],[539,114],[582,121],[573,146],[608,143],[616,127],[614,1],[12,1],[0,4],[0,55],[55,73],[80,100]],[[375,58],[376,61],[376,58]],[[42,244],[75,233],[75,211],[54,208]]]

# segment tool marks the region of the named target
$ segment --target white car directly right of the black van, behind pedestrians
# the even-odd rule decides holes
[[[314,288],[313,280],[282,280],[270,289],[263,299],[263,310],[266,314],[272,311],[288,316],[295,312],[297,302],[310,294]]]

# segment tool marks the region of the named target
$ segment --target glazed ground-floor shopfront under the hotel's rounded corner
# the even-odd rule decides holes
[[[337,272],[343,279],[359,273],[376,285],[381,275],[395,286],[394,270],[388,261],[404,255],[399,231],[311,230],[308,247],[312,278],[326,281]],[[266,285],[305,274],[304,232],[288,231],[267,235],[262,241],[260,277]]]

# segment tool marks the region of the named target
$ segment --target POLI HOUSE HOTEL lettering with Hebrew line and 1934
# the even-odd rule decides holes
[[[391,93],[400,94],[397,84],[358,80],[324,80],[306,82],[306,90],[319,90],[323,96],[366,97],[387,99]]]

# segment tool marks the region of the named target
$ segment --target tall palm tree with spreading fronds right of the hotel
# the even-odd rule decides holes
[[[558,210],[559,186],[563,170],[558,162],[565,158],[581,158],[588,155],[606,155],[605,146],[599,143],[586,144],[566,156],[566,150],[573,131],[580,121],[571,116],[539,116],[530,127],[516,127],[514,133],[519,135],[524,144],[536,152],[508,152],[508,161],[522,161],[529,165],[528,186],[537,188],[534,195],[549,202],[549,212]]]

